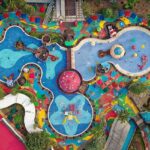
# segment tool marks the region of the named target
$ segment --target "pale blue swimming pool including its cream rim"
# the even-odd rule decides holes
[[[96,75],[96,64],[112,63],[121,73],[129,76],[141,76],[150,70],[150,32],[142,27],[128,27],[120,31],[115,38],[108,40],[85,39],[72,48],[73,68],[77,69],[84,80],[88,81]],[[99,58],[99,50],[107,51],[115,44],[124,47],[126,53],[120,59],[110,55]],[[148,57],[145,66],[142,65],[142,56]]]

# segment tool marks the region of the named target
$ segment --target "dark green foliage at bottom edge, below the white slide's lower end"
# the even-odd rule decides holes
[[[27,134],[25,137],[25,145],[27,150],[47,150],[51,146],[55,146],[47,132],[38,132]]]

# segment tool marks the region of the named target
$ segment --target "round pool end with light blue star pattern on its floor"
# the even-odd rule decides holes
[[[83,134],[93,120],[93,108],[83,95],[72,99],[57,96],[49,106],[48,118],[52,129],[62,136],[75,137]]]

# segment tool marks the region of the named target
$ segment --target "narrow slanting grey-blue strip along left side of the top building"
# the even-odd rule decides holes
[[[54,6],[55,6],[55,0],[50,0],[49,2],[50,3],[47,7],[47,11],[46,11],[45,18],[44,18],[44,21],[43,21],[43,24],[45,24],[45,25],[52,18],[52,12],[53,12],[53,9],[54,9]]]

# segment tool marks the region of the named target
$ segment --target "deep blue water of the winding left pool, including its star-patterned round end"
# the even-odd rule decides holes
[[[0,43],[0,79],[4,80],[4,76],[10,76],[14,74],[14,79],[16,79],[23,65],[27,63],[35,63],[42,68],[42,84],[51,90],[54,95],[54,100],[51,103],[51,106],[48,110],[48,117],[51,123],[51,126],[54,130],[65,136],[76,136],[85,132],[91,124],[93,119],[93,112],[90,102],[81,94],[65,94],[62,93],[57,85],[57,78],[59,74],[66,68],[66,52],[62,50],[57,44],[47,47],[49,52],[59,59],[52,62],[48,59],[46,62],[41,62],[33,56],[30,52],[18,51],[15,49],[15,43],[17,40],[22,40],[27,47],[38,48],[42,45],[41,40],[27,36],[20,28],[12,27],[7,30],[6,37]],[[10,55],[11,54],[11,55]],[[34,88],[39,90],[39,85],[34,84]],[[42,94],[43,90],[39,90]],[[75,102],[75,99],[78,99],[78,103]],[[59,103],[64,102],[66,105],[74,104],[75,108],[78,110],[78,113],[75,114],[77,120],[67,120],[65,124],[59,122],[56,124],[51,120],[51,118],[61,118],[64,119],[64,116],[59,116],[61,107]],[[82,106],[82,107],[81,107]],[[85,119],[86,118],[86,119]],[[70,126],[70,124],[72,126]]]

